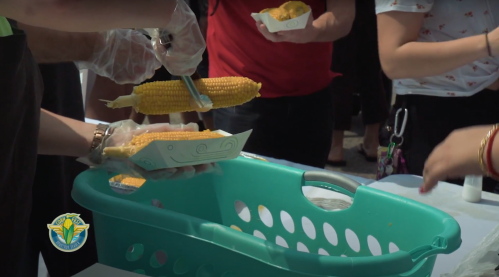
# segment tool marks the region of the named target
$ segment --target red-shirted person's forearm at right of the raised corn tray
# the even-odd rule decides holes
[[[350,33],[355,19],[354,0],[328,0],[327,11],[314,20],[318,30],[312,42],[336,41]]]

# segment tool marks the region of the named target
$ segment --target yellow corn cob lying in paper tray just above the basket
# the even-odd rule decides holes
[[[176,141],[176,140],[199,140],[221,138],[223,135],[209,130],[203,132],[157,132],[144,133],[134,137],[124,146],[104,148],[104,156],[116,158],[128,158],[146,147],[149,143],[157,140]]]

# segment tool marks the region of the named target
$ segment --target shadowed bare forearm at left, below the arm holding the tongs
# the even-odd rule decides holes
[[[28,46],[38,63],[87,61],[102,37],[95,32],[61,32],[19,23],[28,38]]]

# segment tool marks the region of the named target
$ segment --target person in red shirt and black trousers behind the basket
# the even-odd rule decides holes
[[[250,16],[283,2],[209,0],[210,77],[244,76],[262,83],[261,97],[213,110],[216,129],[252,129],[244,151],[324,168],[331,146],[332,41],[350,32],[354,0],[308,1],[303,30],[271,34]],[[327,8],[326,8],[327,6]]]

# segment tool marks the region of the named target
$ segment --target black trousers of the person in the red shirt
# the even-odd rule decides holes
[[[331,147],[332,105],[327,87],[307,96],[256,98],[213,114],[216,129],[232,134],[253,129],[244,151],[324,168]]]

